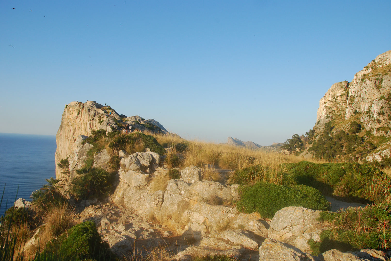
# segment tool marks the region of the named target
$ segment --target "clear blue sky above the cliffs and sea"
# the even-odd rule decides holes
[[[283,142],[391,49],[390,13],[389,0],[0,1],[0,132],[55,135],[65,104],[92,100],[183,138]]]

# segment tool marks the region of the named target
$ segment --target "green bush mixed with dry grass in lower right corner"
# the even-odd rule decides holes
[[[327,213],[320,220],[332,222],[335,227],[323,231],[320,242],[310,243],[312,252],[330,249],[355,251],[365,248],[389,250],[391,245],[391,205],[378,204],[365,208],[347,208]]]

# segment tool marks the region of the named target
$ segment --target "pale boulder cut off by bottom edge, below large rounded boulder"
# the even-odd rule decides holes
[[[316,256],[305,253],[278,240],[266,238],[259,247],[259,261],[320,261]]]

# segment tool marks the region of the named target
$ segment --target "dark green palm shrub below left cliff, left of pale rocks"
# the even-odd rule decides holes
[[[111,182],[114,173],[102,168],[84,167],[76,171],[79,176],[71,181],[70,194],[76,200],[88,199],[90,196],[106,196],[113,190]]]

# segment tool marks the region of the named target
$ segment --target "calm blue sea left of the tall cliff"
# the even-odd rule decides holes
[[[0,215],[11,207],[15,197],[30,200],[30,194],[56,177],[56,136],[0,133]],[[19,191],[16,195],[16,192]]]

